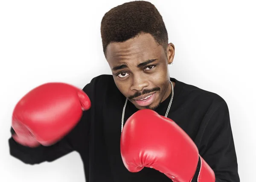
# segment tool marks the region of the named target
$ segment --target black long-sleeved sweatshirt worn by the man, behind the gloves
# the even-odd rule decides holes
[[[215,172],[216,182],[239,182],[227,103],[215,93],[174,78],[170,80],[176,84],[168,117],[195,142],[199,154]],[[83,90],[92,106],[66,137],[52,146],[37,148],[22,146],[11,137],[10,154],[24,163],[38,164],[77,151],[84,164],[86,182],[170,182],[171,179],[154,169],[131,173],[123,165],[120,136],[126,98],[116,87],[113,76],[95,77]],[[171,95],[157,108],[158,114],[165,115]],[[125,121],[136,111],[128,101]]]

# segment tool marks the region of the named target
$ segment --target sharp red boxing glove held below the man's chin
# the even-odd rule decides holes
[[[215,182],[214,172],[192,139],[174,121],[153,110],[137,111],[125,122],[121,155],[130,172],[148,167],[174,182]]]

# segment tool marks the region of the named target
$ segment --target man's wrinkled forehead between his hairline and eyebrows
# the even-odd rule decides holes
[[[151,34],[140,34],[122,43],[110,43],[106,58],[110,64],[123,60],[148,60],[156,58],[162,49]]]

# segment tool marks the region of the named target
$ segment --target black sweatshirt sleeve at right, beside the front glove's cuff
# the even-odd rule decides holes
[[[214,171],[216,182],[240,182],[230,115],[225,101],[212,112],[199,153]]]

